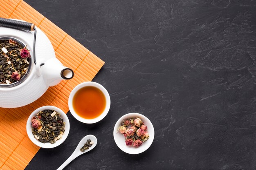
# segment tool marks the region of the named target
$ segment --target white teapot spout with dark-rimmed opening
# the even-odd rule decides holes
[[[63,79],[72,79],[74,77],[72,69],[63,66],[55,57],[47,60],[40,67],[40,70],[47,86],[55,86]]]

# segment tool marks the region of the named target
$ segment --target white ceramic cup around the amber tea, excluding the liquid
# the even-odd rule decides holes
[[[98,117],[94,118],[94,119],[85,119],[83,117],[80,117],[74,110],[74,107],[73,107],[73,104],[72,104],[72,101],[73,101],[73,98],[74,98],[74,95],[75,93],[85,87],[85,86],[94,86],[96,88],[98,88],[99,90],[101,90],[106,98],[106,107],[103,111],[103,113],[101,113],[101,115],[99,115]],[[104,88],[101,84],[99,83],[96,83],[96,82],[83,82],[79,85],[77,85],[70,93],[70,96],[68,98],[68,107],[70,109],[70,113],[79,121],[85,123],[85,124],[94,124],[100,120],[102,120],[107,114],[108,114],[108,111],[110,109],[110,96],[108,94],[108,91],[106,90],[106,88]]]

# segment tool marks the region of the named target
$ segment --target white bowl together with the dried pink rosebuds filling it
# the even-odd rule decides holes
[[[118,119],[113,135],[121,150],[129,154],[139,154],[150,147],[155,131],[153,124],[146,116],[128,113]]]

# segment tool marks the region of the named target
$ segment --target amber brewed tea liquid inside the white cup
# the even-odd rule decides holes
[[[94,86],[79,89],[72,101],[74,111],[85,119],[94,119],[103,113],[106,107],[106,97]]]

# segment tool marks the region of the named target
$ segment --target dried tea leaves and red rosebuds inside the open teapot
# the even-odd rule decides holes
[[[19,81],[27,73],[29,58],[27,46],[14,40],[0,40],[0,84]]]

